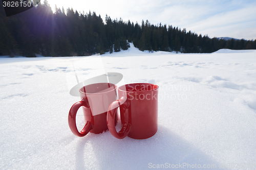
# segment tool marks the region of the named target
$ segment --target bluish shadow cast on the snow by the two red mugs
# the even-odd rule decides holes
[[[142,140],[117,139],[110,132],[85,138],[77,144],[76,169],[148,169],[157,165],[184,169],[203,169],[206,165],[211,166],[208,169],[223,169],[219,162],[164,126],[158,126],[153,137]]]

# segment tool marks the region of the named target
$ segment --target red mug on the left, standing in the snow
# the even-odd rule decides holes
[[[75,135],[82,137],[89,132],[98,134],[108,130],[106,115],[110,104],[117,100],[116,89],[117,86],[112,83],[96,83],[80,88],[81,101],[71,107],[68,116],[69,127]],[[81,106],[83,106],[82,109],[86,125],[78,132],[76,127],[76,113]]]

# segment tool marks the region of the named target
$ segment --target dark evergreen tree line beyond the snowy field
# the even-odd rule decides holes
[[[88,56],[127,50],[133,42],[141,51],[212,53],[221,48],[256,49],[256,40],[209,38],[166,25],[105,19],[95,12],[56,8],[47,1],[23,13],[6,17],[0,7],[0,55]]]

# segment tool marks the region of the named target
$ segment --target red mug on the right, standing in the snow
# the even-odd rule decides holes
[[[146,139],[157,132],[158,85],[150,83],[126,84],[118,88],[119,100],[113,102],[108,111],[107,124],[110,133],[122,139]],[[115,128],[115,117],[120,107],[122,128]]]

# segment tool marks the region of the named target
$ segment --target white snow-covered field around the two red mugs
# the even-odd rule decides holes
[[[0,169],[255,169],[256,51],[240,52],[148,53],[131,44],[101,55],[125,83],[159,85],[158,132],[144,140],[69,129],[80,99],[69,94],[67,68],[91,56],[0,58]]]

